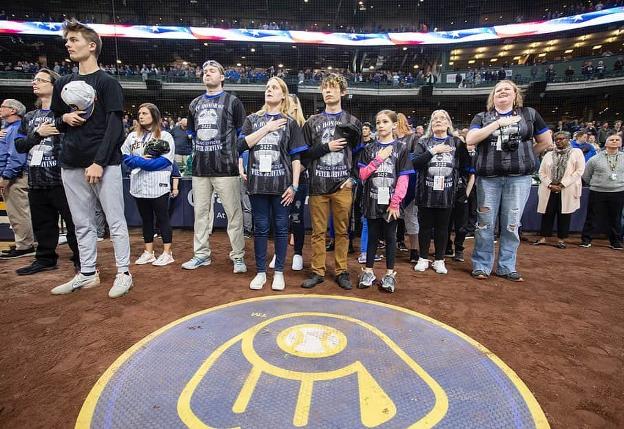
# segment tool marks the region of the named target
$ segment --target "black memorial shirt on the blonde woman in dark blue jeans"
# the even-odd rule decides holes
[[[264,127],[272,118],[279,119],[281,114],[251,114],[245,119],[240,138]],[[288,117],[285,127],[277,129],[260,138],[249,149],[247,167],[247,191],[249,195],[267,194],[282,195],[293,184],[291,156],[308,149],[301,129],[293,118]],[[262,159],[270,159],[270,166],[264,165]],[[266,171],[265,171],[266,170]]]

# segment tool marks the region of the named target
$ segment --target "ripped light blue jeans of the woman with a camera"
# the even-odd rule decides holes
[[[531,191],[531,176],[477,178],[477,229],[472,269],[492,272],[494,266],[494,231],[501,213],[501,238],[496,273],[516,271],[516,252],[520,244],[518,228]],[[483,209],[483,211],[481,211]]]

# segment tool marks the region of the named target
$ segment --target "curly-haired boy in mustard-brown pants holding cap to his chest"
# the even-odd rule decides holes
[[[335,280],[342,289],[351,289],[346,266],[349,249],[349,217],[353,200],[353,186],[357,183],[355,153],[361,148],[361,139],[347,142],[334,139],[338,124],[353,124],[362,129],[360,121],[342,110],[341,98],[346,94],[346,79],[337,74],[326,76],[320,86],[325,102],[322,113],[310,116],[303,127],[309,158],[309,205],[312,219],[312,273],[303,284],[313,288],[325,277],[325,233],[329,221],[330,203],[335,229]]]

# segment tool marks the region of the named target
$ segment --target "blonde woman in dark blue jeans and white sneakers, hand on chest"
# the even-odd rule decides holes
[[[271,289],[285,287],[284,260],[288,247],[290,205],[299,190],[301,153],[308,149],[301,128],[289,114],[288,87],[282,79],[269,79],[264,105],[245,119],[238,150],[249,150],[247,190],[253,208],[253,249],[256,277],[249,289],[259,290],[267,282],[267,244],[273,213],[275,231],[275,271]]]

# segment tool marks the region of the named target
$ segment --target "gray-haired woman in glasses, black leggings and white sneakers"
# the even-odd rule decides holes
[[[413,165],[418,171],[416,179],[416,205],[420,234],[418,244],[420,257],[415,271],[429,267],[431,230],[435,246],[433,269],[446,274],[444,250],[448,239],[448,220],[455,205],[459,171],[470,166],[466,143],[455,136],[453,123],[446,110],[431,114],[425,134],[414,149]]]

